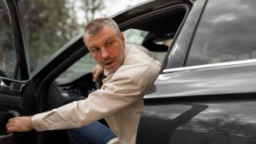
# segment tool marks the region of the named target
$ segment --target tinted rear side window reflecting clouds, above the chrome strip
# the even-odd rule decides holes
[[[187,66],[256,58],[254,0],[211,0],[194,36]]]

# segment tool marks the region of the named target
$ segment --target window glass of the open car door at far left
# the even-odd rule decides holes
[[[0,68],[13,77],[17,58],[7,5],[0,1]]]

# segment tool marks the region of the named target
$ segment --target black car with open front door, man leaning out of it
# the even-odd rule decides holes
[[[66,76],[90,55],[82,34],[29,72],[18,2],[0,1],[0,50],[12,54],[0,57],[0,143],[69,143],[66,130],[5,132],[11,117],[84,99],[100,85],[92,82],[89,67]],[[112,16],[128,43],[147,47],[163,61],[144,97],[136,143],[256,143],[255,7],[254,0],[156,0]]]

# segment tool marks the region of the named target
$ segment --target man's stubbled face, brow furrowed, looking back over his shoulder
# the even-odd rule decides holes
[[[125,42],[122,32],[117,35],[111,27],[105,26],[101,32],[86,38],[85,41],[91,55],[102,68],[114,72],[121,67]]]

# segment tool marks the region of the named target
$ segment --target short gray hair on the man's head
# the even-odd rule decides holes
[[[98,32],[102,31],[104,26],[109,26],[113,29],[113,32],[115,31],[116,34],[120,34],[120,28],[115,23],[115,21],[112,18],[96,18],[93,19],[86,27],[84,28],[84,43],[85,38],[91,37]]]

